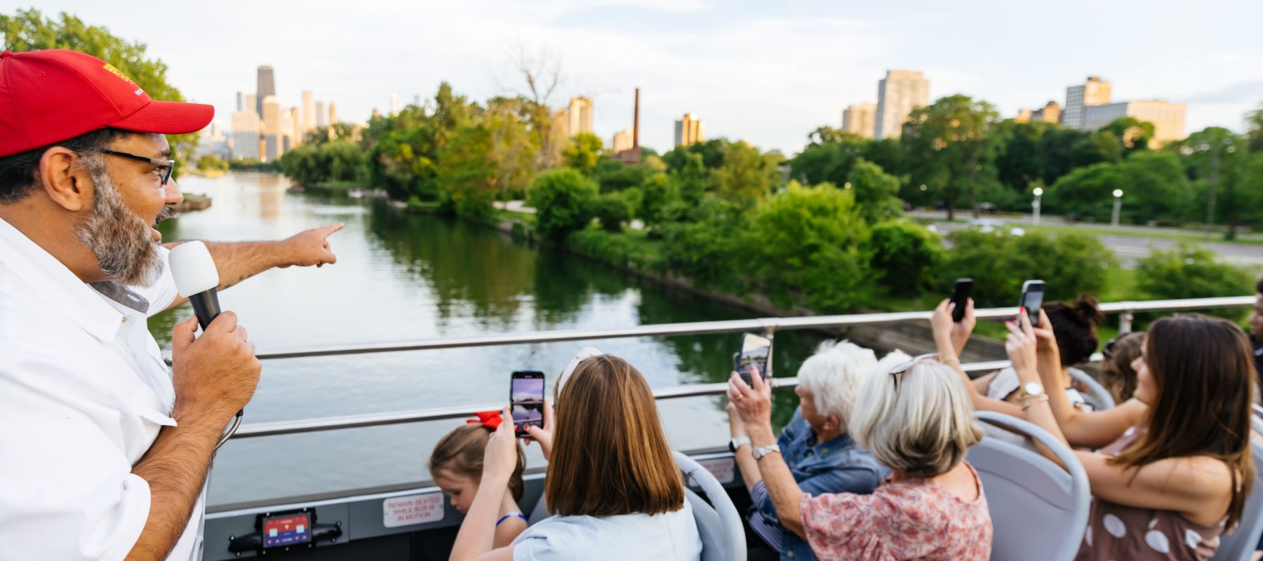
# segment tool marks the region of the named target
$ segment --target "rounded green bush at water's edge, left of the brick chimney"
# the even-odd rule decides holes
[[[561,239],[592,220],[597,201],[596,182],[570,169],[549,169],[536,176],[527,202],[536,208],[536,231],[548,239]]]

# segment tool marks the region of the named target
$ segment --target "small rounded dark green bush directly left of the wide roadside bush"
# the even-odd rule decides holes
[[[887,220],[873,226],[868,243],[873,270],[893,296],[919,296],[932,287],[943,250],[938,236],[909,220]]]

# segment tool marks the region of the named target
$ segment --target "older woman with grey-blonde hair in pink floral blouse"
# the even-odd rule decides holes
[[[849,427],[890,469],[871,494],[805,492],[772,433],[772,387],[729,378],[729,399],[749,428],[753,456],[781,526],[821,560],[985,561],[991,518],[965,454],[983,437],[959,375],[923,355],[895,351],[865,377]]]

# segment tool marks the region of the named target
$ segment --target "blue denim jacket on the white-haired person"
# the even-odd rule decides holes
[[[794,481],[803,493],[859,493],[869,494],[885,479],[889,470],[883,468],[873,455],[859,447],[850,435],[842,435],[818,446],[812,446],[816,432],[802,418],[802,409],[793,413],[793,419],[781,431],[777,445],[789,466]],[[763,481],[750,492],[754,505],[750,512],[750,527],[772,547],[781,551],[782,560],[815,560],[807,541],[781,527],[772,497]],[[779,534],[779,536],[778,536]],[[779,537],[779,540],[777,540]]]

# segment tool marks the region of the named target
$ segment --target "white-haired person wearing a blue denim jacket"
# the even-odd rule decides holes
[[[849,341],[825,341],[816,354],[798,368],[798,409],[781,431],[777,445],[805,493],[871,493],[885,476],[873,455],[855,445],[847,433],[855,394],[863,377],[877,365],[877,355]],[[772,498],[750,454],[745,425],[729,404],[730,447],[741,468],[741,479],[750,492],[750,528],[782,560],[813,560],[811,546],[781,526]]]

